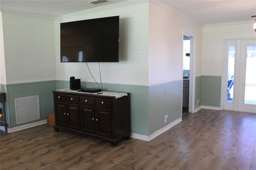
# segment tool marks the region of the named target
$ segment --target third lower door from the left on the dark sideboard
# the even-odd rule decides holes
[[[94,107],[80,106],[80,126],[83,132],[95,134]]]

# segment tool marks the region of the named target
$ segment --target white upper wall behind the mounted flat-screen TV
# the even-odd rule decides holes
[[[134,3],[134,2],[133,2]],[[148,85],[148,2],[70,15],[55,22],[56,79],[94,82],[86,63],[60,63],[60,23],[108,16],[120,16],[119,63],[100,63],[102,83]],[[98,63],[88,63],[100,81]]]

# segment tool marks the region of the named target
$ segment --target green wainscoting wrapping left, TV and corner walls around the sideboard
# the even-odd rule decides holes
[[[84,88],[97,88],[96,83],[81,82]],[[104,91],[130,93],[131,132],[149,136],[173,121],[181,118],[182,80],[153,86],[122,85],[102,83]],[[44,81],[1,85],[7,93],[9,128],[18,127],[36,121],[16,125],[15,98],[39,95],[40,120],[45,120],[54,111],[53,90],[69,88],[69,81]],[[164,123],[164,116],[168,115]]]

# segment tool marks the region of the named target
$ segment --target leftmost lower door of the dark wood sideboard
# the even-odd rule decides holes
[[[55,115],[55,124],[61,127],[67,127],[66,124],[66,104],[55,102],[54,103],[54,115]]]

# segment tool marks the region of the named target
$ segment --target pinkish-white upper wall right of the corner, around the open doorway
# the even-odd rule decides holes
[[[151,2],[149,6],[149,83],[183,78],[183,34],[194,37],[196,73],[200,74],[202,26],[158,5]]]

